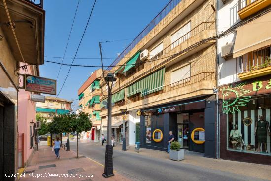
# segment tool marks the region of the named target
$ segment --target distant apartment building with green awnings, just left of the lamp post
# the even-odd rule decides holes
[[[99,141],[101,138],[101,117],[100,117],[100,77],[102,69],[93,72],[90,77],[78,89],[79,109],[90,114],[93,127],[90,131],[81,134],[83,138],[92,141]],[[101,81],[102,82],[102,81]]]

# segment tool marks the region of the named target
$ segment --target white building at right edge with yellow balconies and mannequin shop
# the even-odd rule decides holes
[[[218,7],[220,157],[270,164],[271,0]]]

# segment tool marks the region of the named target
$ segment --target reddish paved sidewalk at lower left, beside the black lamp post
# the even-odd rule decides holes
[[[40,145],[39,151],[34,153],[30,165],[24,170],[25,176],[20,177],[19,181],[129,181],[115,171],[114,177],[104,178],[103,165],[81,155],[76,159],[74,151],[61,149],[60,159],[56,159],[51,151],[52,148],[47,145]]]

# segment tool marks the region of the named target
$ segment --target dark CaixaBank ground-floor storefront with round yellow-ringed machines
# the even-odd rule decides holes
[[[141,147],[166,150],[169,131],[182,149],[215,157],[215,96],[141,110]]]

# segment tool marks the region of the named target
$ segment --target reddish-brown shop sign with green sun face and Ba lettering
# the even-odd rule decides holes
[[[237,83],[220,88],[219,99],[222,99],[222,112],[225,114],[240,111],[246,106],[252,96],[271,93],[271,79],[254,80]]]

